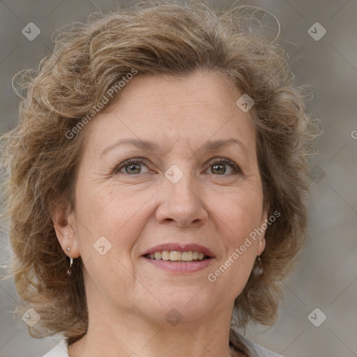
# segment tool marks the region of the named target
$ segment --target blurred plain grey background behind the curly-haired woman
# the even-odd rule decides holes
[[[98,7],[105,13],[135,1],[0,1],[0,131],[17,123],[11,79],[24,68],[37,69],[52,49],[55,29],[70,22],[85,22]],[[230,8],[233,1],[215,1],[215,8]],[[319,153],[309,204],[310,229],[301,264],[284,280],[284,305],[272,328],[250,326],[247,337],[286,357],[357,356],[357,1],[266,0],[236,1],[273,13],[281,25],[279,42],[289,54],[296,75],[294,84],[308,84],[314,98],[309,110],[321,120],[324,133],[316,139]],[[40,35],[29,41],[22,29],[34,22]],[[307,30],[319,22],[326,29],[321,40]],[[325,176],[326,175],[326,176]],[[1,261],[10,254],[1,236]],[[13,311],[18,296],[11,280],[0,284],[0,357],[39,357],[60,337],[36,340]],[[315,308],[326,321],[315,327],[307,318]],[[319,321],[321,312],[312,315]]]

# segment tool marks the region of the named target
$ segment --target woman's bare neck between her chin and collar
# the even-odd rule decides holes
[[[98,305],[89,311],[88,332],[68,347],[70,357],[242,356],[229,349],[230,311],[175,326]]]

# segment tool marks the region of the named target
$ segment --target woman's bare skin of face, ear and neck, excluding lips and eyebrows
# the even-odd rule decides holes
[[[75,210],[58,207],[54,215],[63,251],[68,255],[69,246],[84,262],[89,330],[70,345],[70,357],[243,356],[229,349],[229,323],[264,234],[215,282],[207,278],[267,218],[255,129],[236,105],[242,93],[222,75],[202,72],[137,76],[122,91],[110,112],[84,128]],[[200,150],[208,140],[231,137],[250,153],[237,144]],[[159,149],[126,144],[100,157],[123,138],[153,140]],[[144,163],[113,174],[130,158]],[[241,172],[212,165],[220,158]],[[165,177],[172,165],[183,172],[177,183]],[[105,255],[93,248],[100,236],[112,245]],[[169,273],[142,257],[162,243],[201,244],[215,259],[195,273]],[[182,317],[175,326],[165,319],[173,308]]]

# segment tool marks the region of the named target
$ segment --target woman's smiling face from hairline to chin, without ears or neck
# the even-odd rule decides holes
[[[243,93],[215,73],[138,76],[122,90],[85,128],[70,216],[89,311],[164,322],[231,312],[265,247],[263,234],[240,249],[266,218]]]

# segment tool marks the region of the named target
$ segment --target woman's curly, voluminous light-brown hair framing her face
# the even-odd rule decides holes
[[[88,328],[82,260],[66,275],[68,257],[56,238],[52,208],[75,207],[84,130],[68,132],[133,69],[139,75],[185,77],[197,70],[227,77],[255,102],[256,150],[268,215],[266,248],[234,304],[236,324],[272,325],[282,299],[280,280],[296,264],[307,234],[312,116],[303,86],[292,86],[287,54],[277,43],[244,31],[239,11],[215,12],[197,1],[140,3],[89,17],[54,40],[54,52],[27,75],[18,125],[2,135],[4,214],[13,250],[10,274],[40,321],[33,337],[61,333],[69,343]],[[102,106],[109,110],[123,88]],[[107,96],[108,97],[108,96]],[[96,120],[95,118],[93,120]],[[85,129],[85,128],[84,128]],[[67,134],[66,134],[67,133]],[[233,321],[233,319],[232,319]]]

